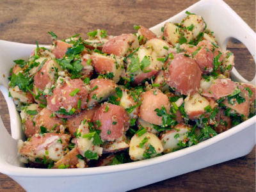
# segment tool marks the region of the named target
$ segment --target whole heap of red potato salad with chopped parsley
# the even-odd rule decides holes
[[[157,36],[97,29],[83,39],[52,31],[15,60],[9,96],[27,140],[30,168],[130,163],[197,145],[255,115],[255,86],[230,79],[234,54],[221,49],[194,13]]]

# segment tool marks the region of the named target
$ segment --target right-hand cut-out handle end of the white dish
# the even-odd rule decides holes
[[[242,42],[252,54],[253,60],[256,64],[256,33],[244,22],[239,15],[237,15],[228,4],[226,4],[224,1],[221,1],[223,3],[223,6],[227,9],[229,14],[225,15],[225,20],[228,20],[228,23],[226,26],[226,30],[223,31],[224,35],[223,38],[220,40],[220,47],[223,47],[225,50],[227,48],[227,42],[228,40],[232,38],[236,38],[240,42]],[[244,63],[246,65],[246,63]],[[244,66],[246,67],[246,66]],[[242,77],[239,72],[237,72],[236,68],[234,67],[231,72],[231,77],[234,81],[239,81],[242,83],[250,83],[255,85],[255,76],[253,77],[252,81],[248,81]]]

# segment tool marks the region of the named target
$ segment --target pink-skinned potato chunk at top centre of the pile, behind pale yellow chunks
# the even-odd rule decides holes
[[[111,38],[103,45],[102,52],[107,54],[115,54],[116,56],[127,56],[130,50],[139,47],[137,36],[133,34],[123,34]]]

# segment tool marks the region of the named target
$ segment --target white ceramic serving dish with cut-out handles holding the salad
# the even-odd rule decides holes
[[[186,10],[204,17],[222,49],[226,49],[228,38],[234,37],[246,45],[255,60],[256,34],[226,3],[203,0]],[[180,22],[186,10],[164,22]],[[159,35],[164,22],[151,28],[152,31]],[[13,60],[28,58],[33,48],[35,45],[0,40],[0,90],[8,104],[12,129],[10,136],[0,118],[0,171],[26,191],[126,191],[244,156],[255,145],[256,116],[198,145],[153,159],[84,169],[24,168],[17,159],[17,140],[24,138],[24,134],[19,113],[8,97],[7,77]],[[248,83],[235,68],[231,77]],[[251,83],[255,84],[255,78]]]

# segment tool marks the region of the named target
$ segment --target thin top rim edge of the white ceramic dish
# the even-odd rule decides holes
[[[190,10],[191,8],[194,8],[195,6],[200,6],[203,3],[216,3],[221,4],[221,6],[224,6],[227,11],[232,10],[226,3],[224,3],[222,0],[218,1],[212,1],[212,0],[202,0],[198,3],[193,4],[189,8],[186,8],[186,10]],[[184,14],[186,10],[183,10],[182,12],[178,13],[177,15]],[[233,11],[234,12],[234,11]],[[173,17],[177,16],[174,15]],[[235,15],[236,16],[236,15]],[[171,17],[170,19],[172,19]],[[238,15],[237,17],[241,19]],[[168,19],[168,20],[170,20]],[[167,20],[166,20],[167,21]],[[166,22],[164,21],[164,22]],[[243,20],[242,20],[243,21]],[[161,22],[163,25],[164,22]],[[157,26],[161,25],[158,24]],[[157,26],[153,28],[157,28]],[[2,41],[2,40],[0,40]],[[7,42],[7,41],[3,41]],[[13,44],[20,44],[20,43],[14,43]],[[24,46],[35,46],[31,44],[22,44]],[[114,172],[123,172],[123,171],[129,171],[139,168],[144,168],[146,166],[152,166],[154,164],[164,163],[166,161],[171,161],[172,159],[177,159],[179,157],[188,156],[189,154],[202,150],[202,148],[210,147],[211,145],[214,145],[215,143],[218,143],[222,140],[225,140],[226,138],[238,134],[241,131],[244,131],[244,129],[247,129],[248,127],[255,126],[256,122],[256,116],[253,116],[249,120],[246,120],[245,122],[237,125],[236,127],[232,127],[232,129],[229,129],[228,131],[222,132],[221,134],[218,134],[217,136],[214,136],[213,138],[210,138],[209,140],[202,141],[201,143],[198,143],[197,145],[193,145],[188,148],[183,148],[182,150],[178,150],[176,152],[172,152],[170,154],[164,154],[163,156],[154,157],[152,159],[145,159],[143,161],[136,161],[132,163],[126,163],[126,164],[117,164],[115,166],[103,166],[103,167],[93,167],[93,168],[86,168],[86,169],[38,169],[38,168],[24,168],[15,166],[13,164],[9,164],[6,161],[3,160],[3,158],[0,157],[0,170],[2,173],[6,175],[12,175],[12,176],[22,176],[22,177],[70,177],[70,176],[81,176],[81,175],[98,175],[103,173],[114,173]]]

